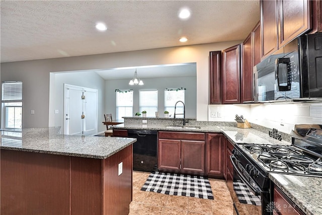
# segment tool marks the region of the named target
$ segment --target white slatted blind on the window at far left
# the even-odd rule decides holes
[[[2,101],[21,101],[22,82],[4,82],[2,84]]]

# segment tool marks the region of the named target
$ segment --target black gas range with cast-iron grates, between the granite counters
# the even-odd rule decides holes
[[[261,196],[262,214],[271,201],[269,173],[322,177],[322,125],[296,124],[289,146],[235,144],[231,161],[234,180]]]

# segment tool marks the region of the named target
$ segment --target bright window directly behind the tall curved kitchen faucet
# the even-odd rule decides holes
[[[166,90],[165,91],[165,110],[169,111],[169,116],[174,116],[175,105],[178,101],[185,102],[185,91],[184,90]],[[183,104],[180,102],[177,104],[176,118],[183,118]]]

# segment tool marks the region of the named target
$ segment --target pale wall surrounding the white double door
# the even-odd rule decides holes
[[[97,127],[98,131],[106,129],[102,123],[105,114],[105,80],[99,75],[93,71],[56,73],[50,74],[50,83],[54,87],[49,92],[49,126],[61,126],[61,130],[64,130],[64,84],[69,84],[98,90]],[[58,110],[59,113],[55,114],[55,110]]]

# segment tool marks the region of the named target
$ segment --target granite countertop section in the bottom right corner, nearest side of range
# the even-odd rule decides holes
[[[276,173],[269,177],[305,214],[322,214],[322,178]]]

